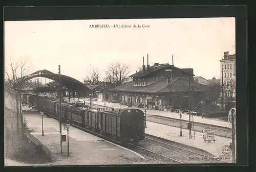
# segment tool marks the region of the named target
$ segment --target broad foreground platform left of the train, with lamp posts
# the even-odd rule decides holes
[[[44,136],[41,135],[41,116],[39,114],[26,115],[29,121],[30,133],[47,146],[51,151],[53,161],[47,165],[116,165],[116,164],[151,164],[141,155],[123,148],[117,144],[83,132],[77,128],[69,129],[70,156],[67,156],[67,141],[62,143],[60,154],[59,122],[53,118],[44,118]],[[63,130],[62,134],[67,134]],[[42,164],[44,165],[44,164]]]

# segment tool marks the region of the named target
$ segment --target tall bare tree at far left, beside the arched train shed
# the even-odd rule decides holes
[[[17,133],[18,133],[18,119],[20,117],[22,128],[22,133],[24,137],[24,121],[22,114],[22,89],[24,88],[27,77],[29,75],[29,68],[27,66],[27,59],[20,59],[18,62],[14,62],[11,59],[9,64],[11,67],[11,71],[7,72],[5,69],[5,90],[7,90],[10,95],[14,97],[16,100],[16,125],[17,125]]]

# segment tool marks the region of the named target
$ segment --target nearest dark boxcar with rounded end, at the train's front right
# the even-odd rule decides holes
[[[137,144],[144,139],[144,113],[139,109],[88,109],[84,124],[85,127],[122,144]]]

